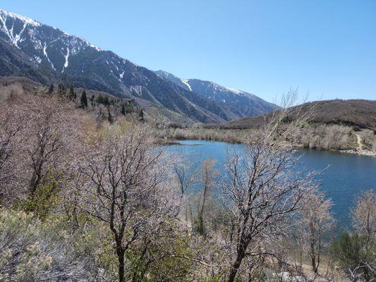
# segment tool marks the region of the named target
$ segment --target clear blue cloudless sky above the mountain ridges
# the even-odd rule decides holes
[[[376,1],[3,0],[152,70],[272,101],[376,99]]]

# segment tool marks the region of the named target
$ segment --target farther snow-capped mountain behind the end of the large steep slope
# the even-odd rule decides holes
[[[238,116],[259,116],[278,108],[254,94],[224,87],[211,81],[178,78],[166,71],[156,71],[155,73],[188,91],[197,92],[202,97],[226,106],[227,109]]]

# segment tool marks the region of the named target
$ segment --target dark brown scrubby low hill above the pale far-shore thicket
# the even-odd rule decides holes
[[[327,100],[303,104],[301,113],[314,109],[310,118],[311,123],[326,123],[338,125],[356,125],[359,128],[376,130],[376,101],[370,100]],[[293,107],[292,111],[297,109]],[[262,115],[253,118],[241,118],[236,121],[229,121],[219,125],[226,129],[253,129],[265,124],[269,115]],[[294,118],[291,114],[289,118]]]

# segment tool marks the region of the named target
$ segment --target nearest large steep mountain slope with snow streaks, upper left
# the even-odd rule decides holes
[[[1,75],[25,75],[44,84],[64,81],[116,97],[146,100],[192,121],[222,123],[238,117],[85,39],[2,10],[0,58]]]

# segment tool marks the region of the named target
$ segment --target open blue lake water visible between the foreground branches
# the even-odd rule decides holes
[[[170,145],[167,150],[182,157],[193,156],[197,163],[203,159],[214,159],[219,170],[223,169],[229,151],[236,149],[240,152],[244,146],[201,140],[179,142],[182,145]],[[325,190],[325,195],[334,204],[332,213],[336,219],[337,230],[350,228],[350,210],[356,203],[356,197],[365,190],[376,190],[376,157],[313,149],[298,149],[296,156],[301,156],[298,169],[312,171],[326,168],[317,176],[322,183],[320,189]]]

